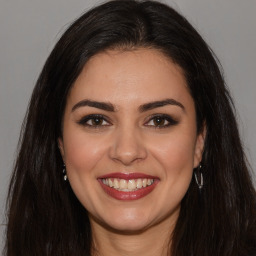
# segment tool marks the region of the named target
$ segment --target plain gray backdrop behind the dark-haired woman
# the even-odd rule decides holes
[[[0,0],[1,237],[5,227],[7,186],[32,88],[53,45],[68,24],[101,2]],[[256,0],[162,2],[184,14],[219,57],[238,110],[245,151],[255,173]]]

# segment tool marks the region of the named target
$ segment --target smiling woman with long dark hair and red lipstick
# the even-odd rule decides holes
[[[213,53],[173,9],[111,1],[34,89],[6,255],[256,255],[256,197]]]

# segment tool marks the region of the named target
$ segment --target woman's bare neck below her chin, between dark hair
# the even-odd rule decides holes
[[[175,223],[170,219],[143,231],[127,232],[106,228],[91,220],[93,256],[170,256],[171,234]]]

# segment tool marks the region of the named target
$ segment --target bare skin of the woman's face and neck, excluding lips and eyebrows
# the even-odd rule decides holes
[[[180,105],[140,111],[143,104],[167,98]],[[115,111],[74,109],[83,100],[111,103]],[[92,114],[105,120],[81,122]],[[176,124],[167,126],[162,118],[157,125],[155,114],[168,115]],[[69,93],[59,146],[71,187],[89,212],[99,255],[167,255],[203,144],[183,72],[161,52],[112,50],[89,60]],[[113,172],[153,175],[159,183],[141,199],[120,201],[97,180]]]

